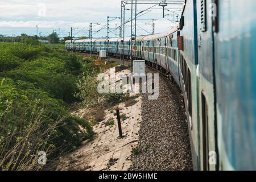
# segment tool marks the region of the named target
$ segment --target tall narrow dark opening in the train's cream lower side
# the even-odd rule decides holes
[[[208,154],[209,154],[209,140],[208,140],[208,105],[204,93],[202,97],[202,129],[203,129],[203,170],[209,170]]]

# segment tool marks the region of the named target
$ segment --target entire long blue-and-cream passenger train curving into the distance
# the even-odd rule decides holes
[[[256,169],[256,1],[187,0],[179,25],[131,38],[67,40],[68,51],[98,53],[146,63],[175,81],[183,93],[193,168]],[[123,45],[124,44],[124,45]]]

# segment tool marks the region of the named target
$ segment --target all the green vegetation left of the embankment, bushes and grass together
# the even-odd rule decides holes
[[[0,170],[40,169],[39,151],[51,162],[93,138],[89,123],[68,111],[80,101],[81,75],[100,70],[81,58],[32,40],[0,43]]]

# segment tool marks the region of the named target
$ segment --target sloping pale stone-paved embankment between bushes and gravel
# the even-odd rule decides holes
[[[110,76],[110,72],[107,71]],[[118,72],[128,75],[129,70]],[[115,80],[115,84],[122,80]],[[77,109],[74,115],[92,123],[95,137],[86,140],[81,147],[60,159],[57,170],[127,171],[131,165],[133,148],[138,144],[141,127],[142,97],[134,93],[119,104],[104,108]],[[119,110],[122,137],[119,137],[117,113]],[[91,116],[91,118],[88,118]]]

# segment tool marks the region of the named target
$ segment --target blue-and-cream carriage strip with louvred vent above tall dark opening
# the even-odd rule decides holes
[[[212,0],[197,0],[197,35],[200,113],[200,169],[216,170],[216,164],[209,164],[210,154],[217,154],[215,100],[214,100],[214,59],[213,29],[211,12]],[[213,156],[217,157],[217,156]]]

